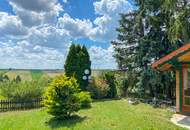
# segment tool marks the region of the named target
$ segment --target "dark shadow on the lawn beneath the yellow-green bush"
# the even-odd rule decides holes
[[[67,128],[73,128],[77,123],[81,123],[84,121],[87,117],[80,117],[78,115],[73,115],[69,119],[56,119],[51,118],[47,123],[48,126],[50,126],[52,129],[60,128],[60,127],[67,127]]]

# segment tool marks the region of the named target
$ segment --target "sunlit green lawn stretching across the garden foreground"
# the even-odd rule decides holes
[[[99,101],[78,116],[57,121],[45,109],[0,114],[2,130],[183,130],[170,122],[172,112],[126,100]]]

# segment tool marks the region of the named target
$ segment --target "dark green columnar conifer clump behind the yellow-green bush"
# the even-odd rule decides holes
[[[66,76],[74,76],[81,89],[86,90],[91,75],[91,61],[85,46],[71,45],[64,68]],[[85,74],[85,70],[89,73]]]

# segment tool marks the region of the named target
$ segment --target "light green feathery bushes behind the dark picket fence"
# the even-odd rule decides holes
[[[43,96],[48,80],[0,82],[1,95],[9,100],[27,101]]]

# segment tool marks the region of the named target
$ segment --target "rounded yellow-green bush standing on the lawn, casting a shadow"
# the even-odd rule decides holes
[[[81,108],[81,101],[88,105],[89,102],[85,99],[87,95],[89,94],[80,92],[75,78],[61,75],[50,83],[45,93],[44,104],[48,113],[58,119],[65,119]]]

